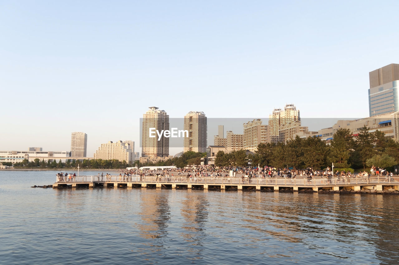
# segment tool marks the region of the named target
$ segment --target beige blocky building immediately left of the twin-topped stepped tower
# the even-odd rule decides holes
[[[255,152],[258,150],[258,145],[267,143],[268,140],[268,126],[262,124],[261,119],[249,121],[244,123],[243,147],[245,150]]]

